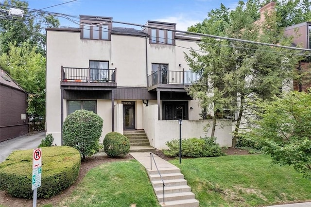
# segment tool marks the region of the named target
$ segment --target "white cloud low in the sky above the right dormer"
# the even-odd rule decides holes
[[[155,21],[176,23],[176,30],[187,31],[188,27],[190,27],[191,25],[195,25],[199,22],[202,22],[203,19],[190,19],[189,17],[178,15],[175,17],[158,18],[155,19]]]

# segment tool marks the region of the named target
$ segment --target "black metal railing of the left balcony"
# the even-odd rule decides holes
[[[117,72],[117,69],[64,68],[62,67],[62,81],[64,82],[116,83],[116,72]]]

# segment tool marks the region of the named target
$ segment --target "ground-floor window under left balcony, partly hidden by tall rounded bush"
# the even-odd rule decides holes
[[[87,111],[93,111],[96,113],[96,101],[94,100],[82,100],[82,101],[67,101],[67,115],[73,113],[76,110],[85,109]]]

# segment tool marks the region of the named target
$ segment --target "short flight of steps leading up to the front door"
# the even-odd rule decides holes
[[[145,130],[123,131],[123,135],[130,140],[130,152],[155,152],[150,146]]]

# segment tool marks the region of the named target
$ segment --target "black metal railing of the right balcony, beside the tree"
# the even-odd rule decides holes
[[[192,85],[197,83],[201,74],[191,71],[158,70],[148,75],[148,87],[157,84]]]

